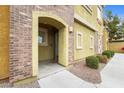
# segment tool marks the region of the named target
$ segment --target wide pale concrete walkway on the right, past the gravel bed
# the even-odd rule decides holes
[[[124,87],[124,54],[116,53],[107,66],[101,71],[101,88]]]

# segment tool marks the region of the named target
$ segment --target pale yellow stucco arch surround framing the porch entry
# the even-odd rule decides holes
[[[39,75],[38,35],[40,24],[41,28],[43,25],[49,27],[52,26],[52,29],[56,29],[55,32],[58,32],[58,57],[56,57],[57,63],[63,66],[68,66],[68,24],[61,17],[54,15],[51,12],[34,11],[32,20],[32,76]],[[47,45],[47,43],[44,43],[44,45]],[[41,53],[44,54],[43,51],[41,51]]]

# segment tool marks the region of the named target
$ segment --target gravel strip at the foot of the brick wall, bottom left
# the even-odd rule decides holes
[[[16,86],[12,86],[8,82],[3,82],[0,84],[0,88],[40,88],[40,86],[37,81],[33,81],[30,83],[26,83],[26,84],[20,84]]]

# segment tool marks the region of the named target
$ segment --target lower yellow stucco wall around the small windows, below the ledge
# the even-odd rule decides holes
[[[77,49],[76,34],[81,32],[83,34],[83,48]],[[93,55],[94,49],[90,48],[90,35],[94,36],[94,32],[89,28],[81,25],[78,22],[74,22],[74,60],[82,59],[87,56]]]

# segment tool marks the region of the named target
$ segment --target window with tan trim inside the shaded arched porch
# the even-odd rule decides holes
[[[48,30],[45,28],[39,28],[38,43],[41,46],[48,46]]]

